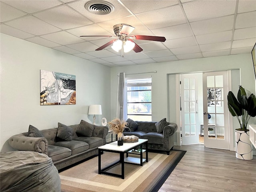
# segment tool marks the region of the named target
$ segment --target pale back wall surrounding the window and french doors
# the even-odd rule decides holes
[[[239,54],[111,68],[111,118],[113,118],[116,114],[115,100],[117,94],[116,88],[118,72],[126,72],[131,74],[154,72],[156,70],[157,73],[150,73],[150,75],[152,75],[152,120],[159,121],[166,117],[168,120],[172,120],[174,122],[174,120],[176,120],[176,109],[173,108],[174,105],[170,104],[173,110],[169,110],[168,102],[170,103],[172,100],[176,100],[176,98],[173,94],[170,94],[168,98],[169,87],[172,86],[170,85],[170,80],[168,80],[168,74],[186,74],[233,69],[240,69],[240,81],[242,86],[255,94],[255,76],[251,54]],[[232,78],[236,78],[237,75],[237,73],[232,74]],[[136,75],[136,77],[139,78],[140,74]],[[174,77],[172,79],[175,80]],[[175,84],[173,87],[175,87]],[[237,92],[238,87],[232,87],[232,91]],[[170,114],[168,115],[168,113]],[[238,124],[236,118],[233,118],[233,122],[234,125]],[[256,123],[256,119],[253,118],[251,122]]]

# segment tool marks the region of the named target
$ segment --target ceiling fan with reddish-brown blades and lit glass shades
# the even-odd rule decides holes
[[[80,37],[111,37],[111,38],[118,38],[115,40],[111,40],[110,42],[100,46],[96,51],[102,50],[106,48],[107,46],[111,46],[112,49],[114,49],[116,52],[119,50],[122,51],[122,57],[124,57],[124,52],[129,52],[130,50],[134,50],[134,52],[138,53],[141,52],[143,49],[138,46],[133,40],[149,40],[149,41],[160,41],[165,42],[165,37],[160,36],[146,36],[146,35],[131,35],[131,32],[135,29],[133,26],[130,26],[128,24],[117,24],[113,26],[114,33],[116,36],[108,36],[108,35],[89,35],[89,36],[80,36]]]

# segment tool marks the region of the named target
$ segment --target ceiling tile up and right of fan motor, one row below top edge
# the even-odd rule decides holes
[[[136,14],[150,30],[186,23],[186,18],[179,5]]]

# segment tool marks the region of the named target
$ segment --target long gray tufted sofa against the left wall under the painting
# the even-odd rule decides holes
[[[80,124],[65,126],[59,123],[58,128],[40,131],[33,126],[30,128],[28,132],[12,136],[10,146],[16,150],[44,153],[52,158],[58,170],[97,155],[98,147],[106,144],[108,134],[108,127],[83,120]]]

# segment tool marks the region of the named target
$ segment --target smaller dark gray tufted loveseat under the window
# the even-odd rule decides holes
[[[166,118],[159,122],[126,120],[129,129],[124,136],[135,135],[141,139],[148,139],[148,149],[165,151],[168,155],[174,146],[174,132],[178,129],[176,123],[166,122]]]

